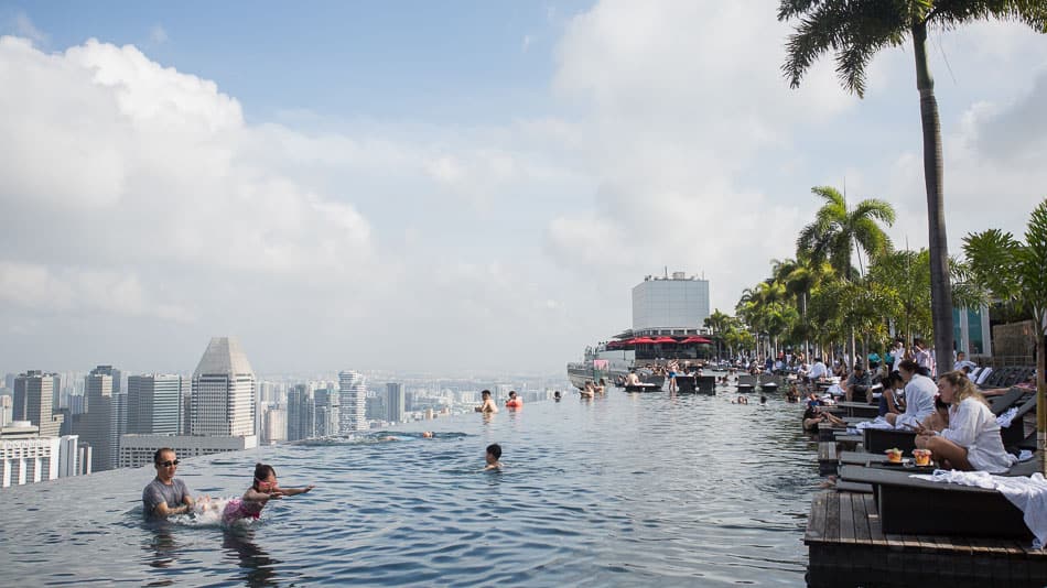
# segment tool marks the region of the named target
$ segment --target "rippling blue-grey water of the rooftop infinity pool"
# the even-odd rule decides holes
[[[0,491],[4,584],[801,586],[818,483],[799,409],[627,394],[464,415],[435,439],[283,445],[183,460],[231,498],[255,461],[281,486],[259,521],[147,524],[152,467]],[[505,449],[483,472],[484,447]]]

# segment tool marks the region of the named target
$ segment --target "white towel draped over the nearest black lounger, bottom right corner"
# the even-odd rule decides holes
[[[1025,526],[1033,532],[1033,548],[1043,549],[1047,542],[1047,479],[1039,472],[1028,478],[1022,476],[993,476],[987,471],[957,471],[936,469],[931,475],[914,473],[932,482],[952,482],[963,486],[995,489],[1024,514]]]

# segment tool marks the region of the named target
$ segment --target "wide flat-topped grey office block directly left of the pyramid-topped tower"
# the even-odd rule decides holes
[[[181,435],[183,378],[150,373],[127,379],[127,432]]]

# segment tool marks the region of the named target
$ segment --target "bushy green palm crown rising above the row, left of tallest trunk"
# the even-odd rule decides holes
[[[851,280],[851,257],[855,249],[865,251],[870,259],[891,250],[891,238],[877,224],[888,227],[894,224],[894,207],[888,203],[870,198],[851,209],[836,188],[814,186],[811,192],[825,204],[814,215],[814,222],[800,231],[796,240],[797,257],[808,257],[814,263],[829,261],[841,276]]]

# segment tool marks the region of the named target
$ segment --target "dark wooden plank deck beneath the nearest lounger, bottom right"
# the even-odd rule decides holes
[[[1047,552],[1012,540],[885,534],[871,494],[816,494],[803,543],[811,587],[1047,586]]]

